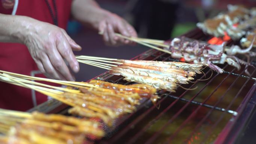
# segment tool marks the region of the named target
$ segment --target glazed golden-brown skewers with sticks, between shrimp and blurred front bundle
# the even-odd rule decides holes
[[[67,86],[67,88],[45,85],[33,80],[58,83]],[[150,98],[153,102],[158,99],[158,96],[155,95],[155,88],[141,84],[124,86],[100,80],[91,80],[89,83],[68,82],[25,76],[7,71],[0,71],[0,81],[51,96],[72,106],[73,108],[70,108],[68,113],[81,117],[97,117],[109,126],[116,118],[133,112],[136,109],[135,106],[140,104],[141,98]]]

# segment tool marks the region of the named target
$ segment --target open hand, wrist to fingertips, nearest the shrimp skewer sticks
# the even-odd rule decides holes
[[[81,50],[81,47],[62,28],[31,18],[27,22],[24,24],[26,29],[22,31],[22,42],[28,47],[39,70],[52,79],[74,81],[64,59],[77,73],[79,64],[72,50]]]

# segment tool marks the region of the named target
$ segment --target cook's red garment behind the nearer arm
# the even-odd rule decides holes
[[[52,0],[48,1],[54,11]],[[72,0],[55,1],[58,26],[65,29],[70,17]],[[11,14],[12,9],[7,9],[6,6],[4,8],[4,6],[0,2],[0,13]],[[45,0],[19,0],[16,15],[29,16],[39,21],[54,23]],[[31,71],[38,70],[25,45],[0,43],[0,50],[0,70],[25,75],[30,75]],[[43,75],[41,74],[40,77]],[[47,96],[36,92],[36,99],[37,104],[40,104],[47,100]],[[31,89],[0,82],[0,108],[25,111],[32,107]]]

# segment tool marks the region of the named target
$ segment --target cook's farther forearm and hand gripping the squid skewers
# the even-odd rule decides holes
[[[134,28],[120,16],[102,9],[94,0],[73,0],[72,16],[83,24],[89,25],[99,32],[103,32],[103,40],[109,45],[131,43],[115,33],[137,37]]]

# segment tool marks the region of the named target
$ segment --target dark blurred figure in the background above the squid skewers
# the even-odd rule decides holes
[[[141,37],[167,40],[175,25],[178,0],[131,0],[129,11]]]

